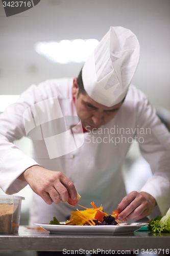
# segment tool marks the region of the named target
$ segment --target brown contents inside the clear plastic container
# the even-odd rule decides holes
[[[18,205],[0,204],[0,233],[12,232],[12,217]]]

